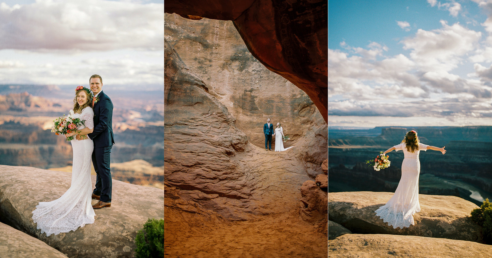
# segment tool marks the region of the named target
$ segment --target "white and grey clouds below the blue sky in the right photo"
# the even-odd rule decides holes
[[[428,2],[450,16],[462,11],[458,2]],[[365,48],[342,42],[342,49],[329,49],[329,115],[491,123],[492,1],[475,2],[490,10],[482,32],[441,20],[438,29],[418,29],[400,39],[401,54],[388,55],[380,42]]]

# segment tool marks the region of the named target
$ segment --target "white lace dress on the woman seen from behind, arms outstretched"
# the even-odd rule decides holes
[[[393,228],[409,227],[415,225],[413,214],[420,212],[419,204],[419,173],[420,151],[427,151],[427,147],[419,143],[419,150],[411,153],[406,149],[405,143],[394,146],[396,151],[403,150],[404,159],[401,163],[401,179],[397,190],[391,199],[375,211],[383,222]]]

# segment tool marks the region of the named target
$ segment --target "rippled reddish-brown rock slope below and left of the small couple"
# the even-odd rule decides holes
[[[299,187],[309,179],[297,147],[270,152],[247,142],[228,108],[167,41],[165,65],[166,185],[227,220],[280,212],[285,203],[297,202]]]

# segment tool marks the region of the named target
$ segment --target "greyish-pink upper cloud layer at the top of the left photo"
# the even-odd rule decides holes
[[[0,49],[161,49],[163,4],[105,0],[37,0],[0,4]]]

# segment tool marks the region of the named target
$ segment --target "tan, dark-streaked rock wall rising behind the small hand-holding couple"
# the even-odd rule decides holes
[[[236,118],[248,142],[265,146],[263,125],[270,118],[289,136],[287,148],[306,135],[312,120],[321,118],[305,92],[251,55],[232,21],[190,20],[177,14],[164,18],[166,40],[207,85],[208,93]]]

